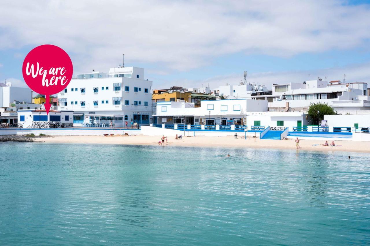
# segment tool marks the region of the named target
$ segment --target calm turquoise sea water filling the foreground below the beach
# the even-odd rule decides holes
[[[42,143],[0,152],[0,245],[370,243],[369,154]]]

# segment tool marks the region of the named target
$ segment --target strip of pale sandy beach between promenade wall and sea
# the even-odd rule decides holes
[[[129,145],[151,145],[158,146],[161,136],[46,136],[35,140],[43,143],[74,143],[74,144],[129,144]],[[233,136],[228,137],[183,137],[175,140],[168,137],[165,146],[196,146],[196,147],[255,147],[255,148],[279,148],[295,150],[295,139],[289,140],[260,140],[254,138]],[[300,150],[316,151],[349,151],[370,153],[370,142],[336,141],[337,146],[322,146],[323,140],[300,140]],[[330,143],[330,141],[329,141]],[[159,147],[159,146],[158,146]]]

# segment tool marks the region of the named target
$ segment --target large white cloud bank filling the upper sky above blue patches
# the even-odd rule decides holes
[[[75,72],[121,62],[153,62],[186,71],[219,55],[291,56],[365,45],[368,6],[340,0],[7,1],[0,49],[55,44]],[[164,70],[166,70],[164,69]]]

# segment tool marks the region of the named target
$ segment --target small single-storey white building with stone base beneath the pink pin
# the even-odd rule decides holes
[[[66,128],[73,127],[73,111],[18,110],[18,128]]]

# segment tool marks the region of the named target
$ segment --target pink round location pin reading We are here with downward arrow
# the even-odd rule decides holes
[[[31,90],[45,95],[45,109],[49,114],[50,95],[64,90],[72,79],[73,65],[69,55],[51,44],[37,46],[24,58],[24,81]]]

